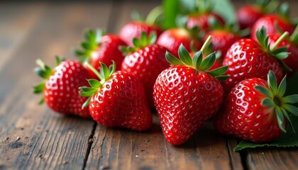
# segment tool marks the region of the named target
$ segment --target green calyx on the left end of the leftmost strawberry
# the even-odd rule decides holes
[[[56,66],[60,64],[60,62],[64,61],[64,59],[56,56]],[[33,86],[33,93],[34,94],[43,94],[43,90],[45,88],[45,81],[52,75],[53,69],[46,65],[43,61],[41,60],[36,60],[36,64],[38,64],[39,67],[36,67],[34,69],[34,72],[38,74],[39,77],[43,78],[44,80],[41,81],[39,84]],[[38,102],[39,104],[42,104],[44,101],[44,98],[41,98],[40,101]]]

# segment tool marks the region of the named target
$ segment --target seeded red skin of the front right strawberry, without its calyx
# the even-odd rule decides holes
[[[245,79],[228,94],[223,111],[214,117],[214,127],[223,135],[252,142],[270,142],[282,134],[272,108],[262,106],[264,94],[255,90],[267,86],[264,79]]]

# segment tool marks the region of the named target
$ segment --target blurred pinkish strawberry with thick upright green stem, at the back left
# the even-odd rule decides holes
[[[135,17],[136,21],[126,23],[126,25],[121,28],[119,32],[120,38],[126,42],[127,45],[133,46],[133,38],[140,38],[142,32],[145,32],[147,35],[155,32],[159,37],[162,33],[162,29],[155,21],[161,13],[162,9],[158,6],[148,13],[145,20],[140,16]]]

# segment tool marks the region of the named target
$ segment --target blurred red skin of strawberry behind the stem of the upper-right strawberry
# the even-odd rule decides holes
[[[255,22],[255,24],[251,28],[251,38],[253,38],[253,40],[257,40],[255,32],[263,26],[266,28],[267,35],[278,33],[275,28],[275,23],[280,28],[280,30],[282,30],[282,32],[287,31],[289,32],[289,34],[292,34],[294,31],[294,26],[292,26],[285,18],[282,18],[277,14],[267,14],[259,18],[258,21]]]

